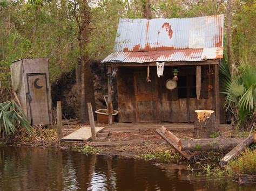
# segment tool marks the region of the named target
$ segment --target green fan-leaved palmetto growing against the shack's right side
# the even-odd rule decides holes
[[[256,67],[248,60],[240,60],[233,75],[224,61],[220,65],[223,77],[222,93],[226,95],[225,107],[231,111],[237,121],[237,129],[242,125],[250,125],[255,114],[256,101]]]

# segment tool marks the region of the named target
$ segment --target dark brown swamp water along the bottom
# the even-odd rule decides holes
[[[176,167],[78,152],[0,147],[0,190],[255,190]]]

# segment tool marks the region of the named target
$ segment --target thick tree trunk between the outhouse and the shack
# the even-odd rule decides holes
[[[95,115],[96,104],[95,94],[93,88],[92,72],[90,67],[89,53],[87,52],[86,45],[89,43],[89,24],[90,24],[90,7],[87,1],[79,2],[79,17],[77,19],[79,25],[78,43],[80,48],[81,58],[81,96],[80,96],[80,121],[88,122],[89,116],[86,112],[87,104],[91,102],[92,111]],[[86,93],[85,93],[86,91]]]

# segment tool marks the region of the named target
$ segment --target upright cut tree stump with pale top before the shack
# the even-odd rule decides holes
[[[213,110],[196,110],[193,138],[210,138],[214,132],[218,132],[215,113]]]

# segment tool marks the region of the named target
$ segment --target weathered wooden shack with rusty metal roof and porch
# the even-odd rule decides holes
[[[111,76],[117,73],[119,122],[190,123],[195,110],[211,109],[220,123],[223,27],[223,15],[120,19],[114,52],[102,61],[109,73],[109,112]]]

